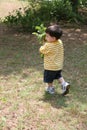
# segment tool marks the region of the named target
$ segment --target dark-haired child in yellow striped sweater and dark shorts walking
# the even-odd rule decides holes
[[[47,42],[40,47],[40,52],[44,54],[44,82],[48,84],[46,91],[54,94],[53,81],[58,79],[62,85],[62,95],[64,96],[69,93],[70,84],[61,75],[64,60],[64,48],[60,40],[62,30],[58,25],[52,25],[45,32]]]

